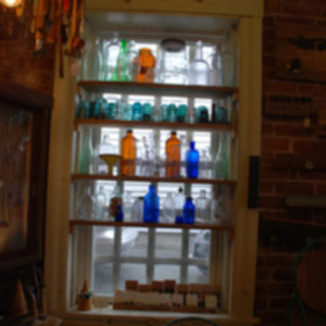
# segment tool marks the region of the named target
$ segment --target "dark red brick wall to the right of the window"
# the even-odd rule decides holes
[[[326,85],[291,82],[276,77],[277,27],[313,28],[326,24],[325,0],[265,0],[263,23],[263,96],[286,93],[311,96],[317,110],[325,108]],[[305,28],[303,28],[305,29]],[[326,34],[323,35],[326,37]],[[326,58],[326,57],[325,57]],[[326,61],[325,61],[326,62]],[[326,76],[325,76],[326,82]],[[255,314],[261,325],[286,325],[286,313],[291,298],[291,266],[298,250],[308,237],[317,237],[326,226],[325,212],[288,209],[288,195],[326,193],[326,173],[288,172],[275,170],[277,154],[325,151],[326,139],[317,135],[317,117],[311,128],[302,117],[281,118],[266,115],[263,110],[261,155],[260,242],[258,253]],[[326,108],[324,109],[326,110]],[[324,149],[324,150],[323,150]],[[317,224],[318,227],[314,227]]]

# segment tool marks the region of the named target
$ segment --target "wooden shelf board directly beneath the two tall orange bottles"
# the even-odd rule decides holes
[[[206,185],[226,185],[236,186],[235,180],[217,179],[190,179],[190,178],[166,178],[166,177],[147,177],[147,176],[122,176],[104,174],[72,174],[72,181],[77,180],[113,180],[113,181],[148,181],[148,183],[168,183],[168,184],[206,184]]]

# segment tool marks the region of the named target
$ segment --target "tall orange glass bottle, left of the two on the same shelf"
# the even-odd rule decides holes
[[[134,175],[137,148],[133,130],[127,130],[126,136],[121,141],[121,175]]]

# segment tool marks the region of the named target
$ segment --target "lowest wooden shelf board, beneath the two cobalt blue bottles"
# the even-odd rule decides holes
[[[110,222],[110,221],[90,221],[90,220],[71,220],[71,230],[74,226],[127,226],[127,227],[149,227],[149,228],[185,228],[185,229],[220,229],[234,230],[231,225],[218,224],[171,224],[171,223],[136,223],[136,222]]]

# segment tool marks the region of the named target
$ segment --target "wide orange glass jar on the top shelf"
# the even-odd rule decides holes
[[[141,48],[134,59],[134,80],[138,83],[153,83],[155,57],[151,49]]]

